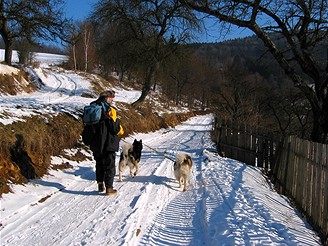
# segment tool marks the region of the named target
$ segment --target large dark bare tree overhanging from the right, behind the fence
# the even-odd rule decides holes
[[[223,28],[232,24],[254,32],[309,101],[314,119],[311,140],[328,142],[328,65],[326,59],[315,58],[318,47],[327,43],[326,0],[180,2],[216,17]]]

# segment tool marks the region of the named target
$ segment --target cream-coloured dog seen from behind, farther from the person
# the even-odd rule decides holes
[[[190,155],[183,152],[178,152],[176,154],[176,159],[174,162],[174,176],[179,182],[179,188],[181,188],[182,183],[183,191],[187,190],[187,185],[189,181],[189,176],[192,168],[192,160]]]

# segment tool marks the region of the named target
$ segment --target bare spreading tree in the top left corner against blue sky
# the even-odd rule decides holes
[[[66,40],[63,0],[0,0],[0,35],[5,43],[5,63],[11,65],[14,40],[24,37]]]

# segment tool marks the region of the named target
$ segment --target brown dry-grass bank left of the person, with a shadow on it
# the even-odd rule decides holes
[[[0,194],[9,191],[9,181],[26,183],[46,174],[51,156],[73,148],[81,131],[82,123],[66,114],[1,125]]]

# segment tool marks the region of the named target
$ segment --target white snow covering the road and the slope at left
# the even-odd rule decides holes
[[[86,78],[46,66],[34,71],[45,86],[31,94],[0,96],[1,122],[53,108],[73,111],[91,100],[80,97],[89,90]],[[115,90],[116,101],[140,95]],[[11,116],[4,119],[4,111]],[[97,191],[92,159],[53,157],[52,164],[69,162],[73,168],[12,185],[13,193],[0,199],[1,245],[320,245],[259,169],[215,153],[212,120],[212,115],[196,116],[175,128],[122,139],[121,144],[142,139],[144,149],[139,174],[132,178],[125,170],[123,182],[116,176],[113,197]],[[186,192],[173,175],[171,159],[179,151],[189,153],[194,164]]]

